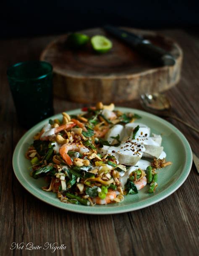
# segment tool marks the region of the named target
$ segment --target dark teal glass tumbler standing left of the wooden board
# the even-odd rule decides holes
[[[16,63],[7,70],[19,123],[30,128],[53,115],[52,65],[45,61]]]

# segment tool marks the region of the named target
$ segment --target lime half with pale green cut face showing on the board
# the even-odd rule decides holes
[[[96,35],[91,38],[91,44],[98,53],[106,53],[112,48],[112,42],[104,36]]]

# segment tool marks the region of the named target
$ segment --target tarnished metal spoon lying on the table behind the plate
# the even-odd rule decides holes
[[[157,116],[164,116],[164,117],[170,117],[172,119],[175,119],[175,120],[181,122],[182,124],[185,124],[189,128],[193,129],[195,132],[199,133],[199,129],[191,126],[190,124],[183,121],[179,117],[171,114],[170,101],[164,94],[160,94],[160,93],[142,94],[141,95],[141,105],[148,112],[151,112]]]

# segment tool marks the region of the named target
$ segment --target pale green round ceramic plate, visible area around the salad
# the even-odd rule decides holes
[[[43,178],[33,179],[30,176],[30,161],[25,158],[25,153],[29,145],[33,142],[33,136],[48,122],[48,119],[32,127],[19,140],[13,154],[13,169],[21,185],[32,195],[45,203],[49,203],[58,208],[68,211],[75,211],[85,214],[116,214],[126,211],[135,211],[140,208],[150,206],[168,197],[180,187],[189,175],[192,164],[191,148],[183,134],[167,121],[132,108],[117,108],[123,112],[132,112],[142,117],[140,122],[148,125],[151,132],[162,135],[162,145],[167,153],[167,160],[173,164],[160,170],[158,174],[158,187],[154,194],[147,193],[147,186],[136,195],[127,195],[122,203],[113,203],[105,206],[82,206],[62,203],[57,198],[56,193],[46,192],[41,189],[45,186]],[[68,114],[80,113],[80,109],[68,111]],[[61,118],[61,114],[53,116],[51,119]]]

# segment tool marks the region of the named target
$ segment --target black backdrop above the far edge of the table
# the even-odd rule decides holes
[[[60,34],[107,23],[195,30],[198,16],[192,1],[5,0],[0,5],[0,37]]]

